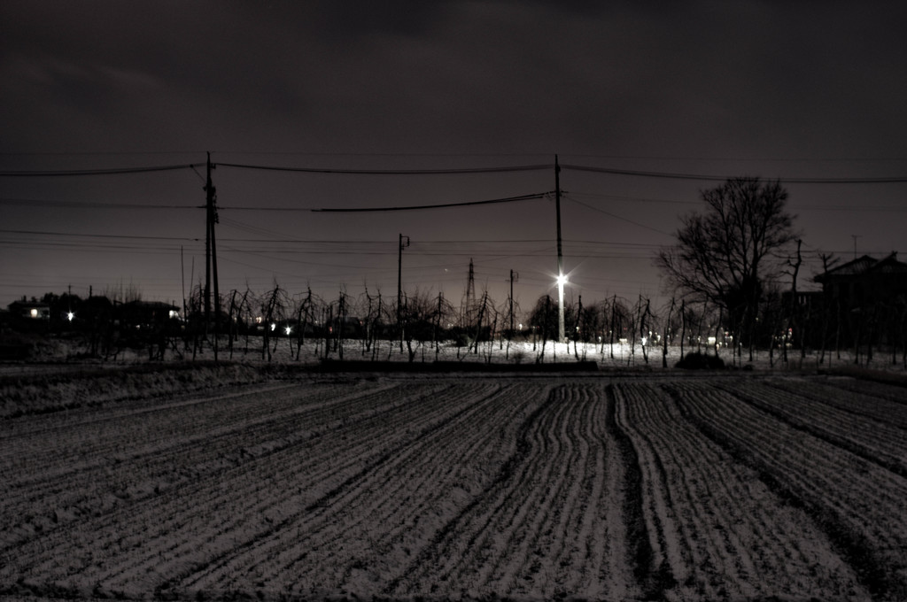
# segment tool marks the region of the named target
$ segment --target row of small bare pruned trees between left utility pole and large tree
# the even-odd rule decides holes
[[[275,282],[263,293],[230,291],[221,300],[223,313],[216,325],[204,323],[202,303],[196,289],[182,335],[184,349],[193,356],[217,341],[219,353],[229,357],[255,353],[270,360],[283,347],[296,359],[302,359],[304,350],[344,359],[355,348],[356,359],[405,354],[413,362],[437,359],[447,345],[456,349],[457,357],[482,355],[491,362],[500,352],[510,359],[512,343],[528,342],[535,362],[558,361],[552,345],[558,342],[558,302],[548,295],[523,311],[512,299],[497,303],[487,292],[472,302],[454,304],[442,293],[416,289],[405,294],[398,307],[395,298],[380,290],[366,288],[358,296],[341,290],[334,298],[323,298],[310,289],[291,294]],[[667,366],[669,345],[678,345],[681,356],[691,349],[730,345],[721,316],[707,305],[671,300],[655,307],[646,296],[610,296],[584,304],[577,296],[565,302],[564,315],[566,340],[561,344],[572,344],[567,348],[577,360],[597,353],[615,362],[649,364],[659,361],[654,354]],[[514,350],[517,361],[525,359],[524,350],[525,345]]]

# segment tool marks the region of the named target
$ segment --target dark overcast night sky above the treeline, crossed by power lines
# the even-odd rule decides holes
[[[515,270],[529,309],[556,293],[551,196],[310,209],[546,193],[555,154],[584,304],[661,296],[653,255],[720,183],[655,175],[785,181],[801,288],[820,253],[907,260],[904,23],[903,2],[5,0],[0,306],[69,286],[181,305],[208,151],[224,293],[394,297],[403,234],[405,290],[458,302],[473,258],[478,294],[502,303]],[[59,175],[155,166],[179,169]]]

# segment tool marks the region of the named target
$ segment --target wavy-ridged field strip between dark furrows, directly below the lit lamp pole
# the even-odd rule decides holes
[[[414,560],[395,583],[394,593],[464,591],[481,596],[496,591],[552,597],[567,591],[570,579],[587,591],[602,591],[603,576],[619,581],[626,590],[629,570],[625,565],[608,565],[614,556],[625,558],[602,550],[609,542],[623,551],[622,530],[603,520],[609,504],[602,502],[602,492],[617,491],[595,484],[606,479],[607,471],[586,472],[600,466],[591,451],[602,445],[606,405],[604,395],[590,398],[577,387],[561,386],[552,392],[522,425],[512,462]],[[599,421],[597,429],[588,427],[593,420]],[[599,497],[593,498],[593,493]],[[620,507],[620,500],[607,501]],[[590,525],[587,539],[568,541],[555,532],[569,524],[572,516]],[[597,566],[589,558],[602,564]],[[567,566],[573,568],[571,578],[566,577]]]

